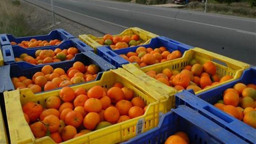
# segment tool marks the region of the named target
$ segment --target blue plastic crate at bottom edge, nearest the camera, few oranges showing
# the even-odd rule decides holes
[[[213,144],[213,143],[246,143],[229,131],[208,120],[200,113],[187,106],[180,105],[177,109],[163,115],[158,127],[140,134],[122,144],[159,144],[177,131],[186,132],[190,143]]]

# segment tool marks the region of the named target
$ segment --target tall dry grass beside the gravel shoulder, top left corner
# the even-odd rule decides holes
[[[0,0],[0,3],[0,33],[11,33],[16,37],[39,33],[26,21],[29,11],[20,8],[20,1]]]

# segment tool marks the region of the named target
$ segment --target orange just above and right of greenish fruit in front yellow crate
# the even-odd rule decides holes
[[[116,123],[119,119],[120,113],[117,108],[110,106],[105,109],[104,119],[110,123]]]

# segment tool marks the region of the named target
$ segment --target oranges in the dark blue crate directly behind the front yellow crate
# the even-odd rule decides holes
[[[96,79],[98,72],[99,67],[97,65],[85,66],[77,61],[66,73],[62,68],[53,69],[51,65],[45,65],[41,72],[36,72],[33,75],[32,79],[24,76],[13,77],[12,82],[16,89],[29,88],[33,93],[39,93],[72,84],[93,81]]]

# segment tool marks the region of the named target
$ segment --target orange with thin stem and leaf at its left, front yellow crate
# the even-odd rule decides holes
[[[55,115],[46,116],[44,118],[43,122],[46,124],[46,126],[48,127],[48,129],[51,133],[57,131],[58,127],[60,125],[60,120]]]

